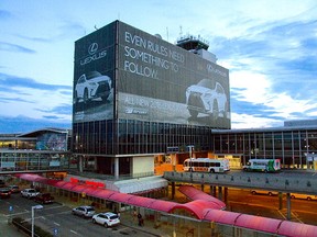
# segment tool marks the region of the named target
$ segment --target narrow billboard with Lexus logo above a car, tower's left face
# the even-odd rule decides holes
[[[116,23],[75,42],[73,122],[113,119]]]

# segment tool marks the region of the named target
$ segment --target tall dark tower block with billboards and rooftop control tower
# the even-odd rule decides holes
[[[177,45],[120,21],[75,42],[79,169],[116,177],[153,172],[155,156],[168,147],[207,151],[211,128],[230,128],[228,69],[199,38]]]

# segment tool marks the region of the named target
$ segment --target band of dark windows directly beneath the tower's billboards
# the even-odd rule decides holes
[[[200,150],[211,149],[210,127],[157,122],[119,120],[76,123],[73,125],[73,151],[86,154],[155,154],[166,153],[171,146],[188,145],[195,145]]]

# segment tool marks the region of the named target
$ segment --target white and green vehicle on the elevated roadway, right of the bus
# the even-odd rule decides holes
[[[281,160],[250,159],[242,168],[244,171],[278,172],[281,170]]]

